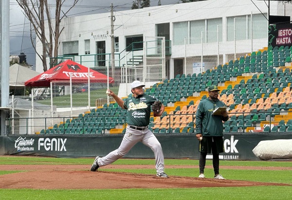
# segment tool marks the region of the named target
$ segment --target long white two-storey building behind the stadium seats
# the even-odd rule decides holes
[[[269,3],[270,15],[292,15],[290,3]],[[115,67],[125,66],[129,44],[157,36],[166,40],[166,78],[198,72],[196,66],[216,67],[268,46],[268,12],[264,0],[205,0],[114,12]],[[110,13],[64,18],[58,55],[75,55],[75,61],[91,67],[109,65],[110,20]],[[42,72],[38,57],[36,63]]]

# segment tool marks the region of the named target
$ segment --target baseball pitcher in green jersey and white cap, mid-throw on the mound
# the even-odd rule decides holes
[[[167,174],[164,173],[164,155],[161,144],[148,129],[151,105],[155,117],[162,115],[164,105],[156,98],[144,94],[144,86],[139,80],[132,82],[131,92],[133,96],[125,101],[115,95],[111,90],[107,90],[107,94],[112,96],[119,106],[128,110],[128,126],[120,147],[105,157],[99,158],[97,156],[91,165],[91,171],[96,171],[99,167],[118,160],[126,155],[137,142],[141,141],[154,152],[156,176],[168,178]]]

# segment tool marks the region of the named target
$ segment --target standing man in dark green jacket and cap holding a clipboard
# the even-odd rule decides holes
[[[228,109],[214,112],[218,108],[226,107],[226,104],[218,99],[219,91],[217,86],[211,85],[208,88],[209,97],[201,100],[196,112],[196,137],[200,140],[199,151],[201,152],[199,178],[205,178],[206,156],[212,150],[214,179],[224,179],[219,174],[219,153],[224,152],[222,121],[227,121],[229,116]]]

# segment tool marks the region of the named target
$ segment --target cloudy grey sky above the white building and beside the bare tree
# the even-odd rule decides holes
[[[64,10],[66,10],[66,5],[71,5],[72,1],[66,0]],[[157,6],[158,1],[150,0],[151,6]],[[48,0],[48,2],[54,5],[55,0]],[[109,12],[111,2],[113,2],[115,11],[121,11],[130,10],[133,0],[79,0],[78,5],[67,16]],[[178,2],[179,0],[161,0],[162,5]],[[21,52],[26,55],[28,64],[36,65],[36,54],[30,39],[29,21],[22,14],[22,9],[17,1],[10,0],[10,55],[19,55]]]

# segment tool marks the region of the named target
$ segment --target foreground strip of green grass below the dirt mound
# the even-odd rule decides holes
[[[0,189],[1,199],[29,200],[291,200],[291,186],[185,189],[34,190]]]

